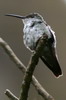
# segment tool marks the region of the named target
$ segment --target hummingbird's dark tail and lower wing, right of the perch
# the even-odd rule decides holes
[[[48,42],[44,47],[41,60],[47,65],[47,67],[54,73],[56,77],[62,74],[58,59],[56,57],[55,48]]]

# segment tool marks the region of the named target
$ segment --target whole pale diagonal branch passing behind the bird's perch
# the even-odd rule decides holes
[[[23,73],[26,71],[25,65],[17,58],[13,50],[10,46],[0,38],[0,46],[2,46],[5,52],[8,54],[10,59],[17,65],[16,67],[20,69]],[[38,93],[45,99],[45,100],[54,100],[53,97],[41,86],[38,80],[33,76],[32,77],[32,84],[35,86]]]

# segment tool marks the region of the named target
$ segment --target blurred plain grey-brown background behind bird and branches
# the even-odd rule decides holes
[[[56,79],[40,60],[34,75],[42,86],[55,98],[66,98],[66,1],[65,0],[0,0],[0,37],[11,46],[20,60],[27,66],[31,53],[23,44],[23,23],[20,19],[4,16],[7,13],[27,15],[40,13],[53,28],[57,36],[57,52],[63,77]],[[0,99],[9,100],[4,91],[10,89],[20,94],[23,74],[0,47]],[[29,100],[43,100],[31,85]]]

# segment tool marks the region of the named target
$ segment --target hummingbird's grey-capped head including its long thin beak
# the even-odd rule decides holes
[[[43,17],[38,13],[30,13],[29,15],[26,15],[26,16],[20,16],[20,15],[15,15],[15,14],[6,14],[6,16],[20,18],[20,19],[22,19],[24,24],[27,24],[27,23],[33,22],[33,21],[44,21]]]

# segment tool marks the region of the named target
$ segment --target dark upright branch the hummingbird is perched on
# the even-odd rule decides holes
[[[40,40],[38,41],[36,50],[29,61],[29,65],[27,66],[27,70],[26,70],[26,73],[25,73],[25,76],[22,82],[19,100],[27,100],[28,98],[28,91],[29,91],[30,84],[32,81],[32,75],[33,75],[36,65],[38,64],[38,60],[41,56],[44,46],[46,45],[46,42],[47,42],[46,35],[41,37]]]

